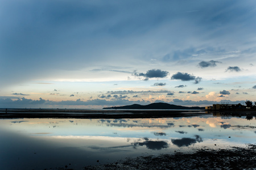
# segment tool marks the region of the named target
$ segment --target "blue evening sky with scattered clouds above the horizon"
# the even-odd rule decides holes
[[[255,1],[0,2],[0,108],[256,101]]]

